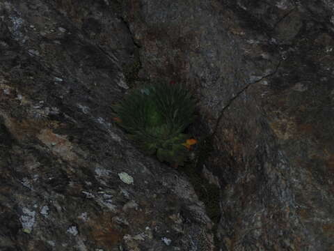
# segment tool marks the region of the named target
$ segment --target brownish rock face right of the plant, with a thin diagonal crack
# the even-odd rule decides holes
[[[124,2],[140,74],[197,93],[218,247],[333,250],[333,1]]]

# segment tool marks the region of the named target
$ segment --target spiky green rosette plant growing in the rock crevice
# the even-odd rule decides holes
[[[161,162],[184,165],[191,145],[184,130],[193,122],[195,101],[184,84],[148,84],[133,89],[114,107],[115,121],[131,139]]]

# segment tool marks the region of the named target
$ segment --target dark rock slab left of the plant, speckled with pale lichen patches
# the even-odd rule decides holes
[[[186,177],[113,124],[136,50],[120,7],[0,1],[1,251],[214,248]]]

